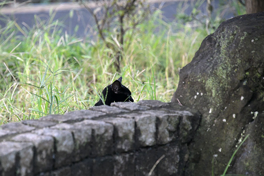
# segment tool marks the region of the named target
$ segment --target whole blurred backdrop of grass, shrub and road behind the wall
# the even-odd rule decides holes
[[[135,102],[169,102],[202,40],[249,9],[243,0],[0,5],[1,124],[87,109],[120,76]]]

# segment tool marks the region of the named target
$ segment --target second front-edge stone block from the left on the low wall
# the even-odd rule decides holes
[[[53,167],[54,139],[51,136],[41,136],[34,133],[16,135],[13,141],[30,142],[35,146],[34,173],[45,172]]]

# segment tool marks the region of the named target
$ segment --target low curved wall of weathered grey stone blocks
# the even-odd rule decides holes
[[[5,124],[0,175],[139,176],[153,166],[153,176],[182,174],[199,121],[181,106],[153,100]]]

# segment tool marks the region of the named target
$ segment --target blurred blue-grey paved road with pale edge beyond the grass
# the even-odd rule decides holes
[[[195,2],[185,1],[185,0],[150,0],[150,5],[153,8],[160,9],[163,13],[165,21],[175,20],[175,15],[179,13],[179,5],[186,3],[187,9],[185,10],[186,14],[190,14],[192,11],[192,4]],[[219,5],[219,0],[212,1],[212,5],[216,9]],[[96,8],[96,4],[91,3],[89,5],[91,8]],[[42,20],[50,18],[49,12],[50,9],[55,10],[54,20],[63,21],[63,33],[67,31],[68,34],[75,34],[77,37],[85,37],[91,35],[93,26],[95,25],[94,19],[91,14],[84,8],[80,7],[76,3],[63,3],[63,4],[49,4],[49,5],[28,5],[18,8],[3,8],[1,13],[8,16],[11,19],[15,19],[20,26],[29,26],[32,27],[35,25],[34,16],[38,15]],[[70,17],[70,11],[73,10],[73,16]],[[181,10],[181,9],[180,9]],[[202,13],[207,14],[206,12],[206,2],[200,7]],[[0,15],[1,16],[1,15]],[[2,16],[3,17],[3,16]],[[232,14],[229,13],[225,18],[231,18]],[[0,25],[5,26],[5,22],[0,20]],[[78,30],[75,31],[75,26],[78,25]]]

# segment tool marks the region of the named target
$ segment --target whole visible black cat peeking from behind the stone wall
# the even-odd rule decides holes
[[[126,88],[124,85],[122,85],[121,82],[122,82],[122,77],[115,80],[113,84],[108,85],[107,87],[104,88],[102,93],[104,95],[106,105],[110,106],[110,104],[114,101],[134,102],[133,98],[131,97],[130,90]],[[101,98],[94,106],[100,106],[100,105],[103,105]]]

